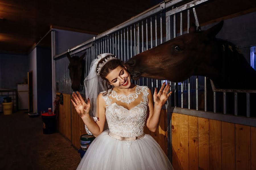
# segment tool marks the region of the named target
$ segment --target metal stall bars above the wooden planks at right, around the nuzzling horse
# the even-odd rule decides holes
[[[179,6],[177,8],[172,8],[171,10],[166,12],[166,37],[167,37],[167,41],[175,38],[177,36],[177,32],[176,32],[176,22],[177,22],[177,16],[180,16],[180,35],[182,35],[182,20],[183,20],[183,13],[187,12],[187,25],[188,25],[188,30],[189,30],[189,18],[190,18],[190,9],[193,10],[194,13],[194,17],[196,20],[196,26],[198,27],[198,29],[200,29],[199,26],[199,22],[196,16],[196,10],[195,10],[195,6],[200,5],[201,3],[204,3],[208,0],[196,0],[196,1],[192,1],[190,3],[187,3],[185,5]],[[189,31],[188,31],[189,32]],[[176,113],[182,113],[182,114],[188,114],[188,115],[192,115],[192,116],[200,116],[200,117],[204,117],[204,118],[214,118],[215,120],[222,120],[222,121],[227,121],[227,122],[233,122],[233,123],[238,123],[238,124],[245,124],[245,125],[252,125],[251,122],[253,122],[253,120],[250,120],[250,93],[255,93],[255,90],[249,90],[249,91],[241,91],[241,90],[227,90],[227,89],[222,89],[222,90],[213,90],[213,112],[216,113],[216,92],[222,92],[223,93],[223,114],[218,114],[216,116],[216,114],[204,114],[202,115],[202,113],[207,112],[208,108],[207,108],[207,86],[206,86],[206,77],[203,76],[192,76],[191,78],[189,78],[188,80],[186,80],[185,82],[181,82],[181,83],[171,83],[172,84],[172,90],[174,92],[174,99],[172,99],[171,101],[169,101],[169,107],[174,107],[173,112]],[[179,95],[177,91],[179,91],[179,88],[181,89],[181,94]],[[178,89],[178,90],[177,90]],[[182,109],[184,108],[184,90],[187,89],[188,90],[188,103],[187,103],[187,109],[190,109],[189,111],[186,109]],[[192,105],[191,105],[191,90],[195,89],[195,107],[192,110]],[[198,99],[198,93],[199,90],[203,90],[204,92],[204,109],[202,111],[199,111],[199,99]],[[244,92],[246,93],[246,117],[249,119],[246,119],[247,122],[246,123],[245,119],[242,119],[241,117],[230,117],[227,115],[226,112],[226,95],[227,92],[233,92],[234,93],[234,105],[235,105],[235,112],[234,115],[238,115],[239,113],[237,113],[237,93],[238,92]],[[179,96],[178,96],[179,95]],[[180,97],[181,99],[181,105],[180,108],[178,103],[178,98]],[[210,112],[209,112],[210,113]],[[221,116],[220,116],[221,115]],[[227,117],[223,117],[223,115],[228,116]],[[254,121],[255,122],[255,121]]]

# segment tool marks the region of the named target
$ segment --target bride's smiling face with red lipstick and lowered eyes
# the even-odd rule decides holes
[[[126,67],[116,67],[106,76],[106,78],[108,84],[113,85],[116,88],[129,88],[131,86],[131,77],[126,71]]]

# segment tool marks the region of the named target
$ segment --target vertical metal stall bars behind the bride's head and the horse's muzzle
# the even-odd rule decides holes
[[[162,15],[162,12],[158,12],[139,22],[108,33],[104,37],[96,37],[96,53],[113,52],[123,61],[128,61],[132,56],[157,46],[163,42]],[[159,88],[158,80],[140,78],[132,82],[149,86],[152,91],[155,86]]]

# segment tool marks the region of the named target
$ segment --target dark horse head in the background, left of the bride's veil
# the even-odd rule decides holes
[[[74,91],[80,90],[80,85],[83,84],[84,73],[85,73],[85,61],[83,58],[85,57],[85,53],[78,57],[71,57],[69,53],[67,53],[67,58],[69,59],[69,77],[71,79],[71,88]]]

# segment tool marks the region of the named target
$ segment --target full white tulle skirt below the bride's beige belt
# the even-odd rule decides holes
[[[77,170],[144,170],[173,169],[169,159],[148,134],[135,141],[120,141],[108,135],[97,136],[87,149]]]

